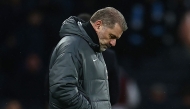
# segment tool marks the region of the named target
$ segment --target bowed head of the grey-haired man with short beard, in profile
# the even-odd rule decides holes
[[[113,7],[96,11],[90,22],[98,35],[101,51],[115,46],[116,40],[128,28],[124,16]]]

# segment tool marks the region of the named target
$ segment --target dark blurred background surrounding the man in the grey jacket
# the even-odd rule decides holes
[[[190,109],[190,0],[1,0],[0,108],[48,109],[62,22],[106,6],[129,27],[111,48],[120,89],[113,109]]]

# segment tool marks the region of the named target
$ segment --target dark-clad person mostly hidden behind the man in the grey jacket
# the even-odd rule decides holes
[[[81,13],[77,17],[87,22],[87,24],[83,23],[83,25],[88,25],[91,15],[88,13]],[[113,106],[118,102],[120,96],[119,64],[117,62],[115,51],[111,48],[108,48],[106,51],[102,52],[102,55],[108,71],[110,103]]]

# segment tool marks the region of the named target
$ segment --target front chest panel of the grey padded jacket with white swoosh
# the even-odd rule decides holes
[[[91,101],[109,100],[108,74],[102,54],[91,54],[84,61],[84,89]],[[102,96],[104,95],[104,96]]]

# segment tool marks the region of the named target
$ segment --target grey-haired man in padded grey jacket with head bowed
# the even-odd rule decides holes
[[[108,74],[101,54],[115,46],[127,25],[113,7],[96,11],[89,23],[71,16],[50,60],[50,109],[110,109]]]

